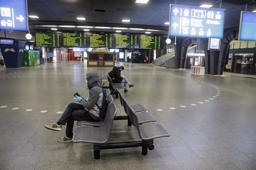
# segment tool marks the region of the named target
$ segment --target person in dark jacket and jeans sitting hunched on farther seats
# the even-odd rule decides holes
[[[133,87],[134,85],[132,85],[129,81],[127,77],[122,77],[121,76],[121,71],[124,70],[124,66],[120,66],[120,67],[113,67],[112,71],[108,73],[108,75],[110,76],[110,78],[112,79],[113,83],[124,83],[125,89],[124,92],[128,92],[126,86],[127,84],[129,85],[129,88]]]

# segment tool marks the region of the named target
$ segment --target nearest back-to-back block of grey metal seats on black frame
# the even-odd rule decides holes
[[[86,126],[78,127],[73,133],[73,142],[93,143],[94,159],[100,158],[100,151],[102,149],[116,149],[125,147],[142,147],[142,154],[147,155],[148,149],[154,149],[153,140],[155,138],[170,136],[170,134],[160,124],[155,122],[155,118],[150,113],[138,110],[135,112],[132,106],[130,106],[125,100],[124,96],[122,96],[119,89],[116,89],[116,91],[120,96],[120,101],[122,106],[124,106],[125,113],[128,115],[128,122],[130,121],[132,125],[136,127],[142,140],[133,142],[106,143],[109,140],[115,117],[118,117],[116,116],[117,108],[113,102],[114,99],[111,95],[109,95],[110,91],[107,89],[108,106],[105,118],[99,122],[78,121],[77,125]]]

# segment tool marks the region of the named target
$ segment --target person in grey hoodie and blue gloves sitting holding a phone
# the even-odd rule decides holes
[[[67,123],[66,135],[59,138],[59,142],[72,142],[74,120],[99,121],[99,108],[96,106],[96,103],[101,108],[103,101],[102,89],[95,86],[99,84],[99,79],[98,72],[88,71],[86,74],[87,86],[89,88],[88,98],[85,99],[83,96],[75,96],[75,102],[79,103],[69,103],[58,122],[45,125],[47,129],[61,131],[62,125]]]

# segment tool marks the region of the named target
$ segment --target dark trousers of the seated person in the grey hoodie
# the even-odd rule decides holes
[[[90,116],[89,112],[85,110],[83,105],[78,103],[69,103],[68,107],[64,111],[63,115],[60,117],[59,121],[62,125],[67,123],[66,136],[73,137],[73,126],[74,120],[86,120],[95,122],[96,120]]]

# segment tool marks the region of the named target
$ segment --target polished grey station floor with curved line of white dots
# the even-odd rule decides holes
[[[147,108],[170,137],[155,139],[146,156],[136,147],[102,150],[94,160],[91,143],[60,143],[65,126],[56,132],[43,125],[60,118],[75,92],[87,96],[88,70],[103,72],[106,82],[112,68],[80,62],[0,66],[0,169],[256,169],[256,76],[116,65],[124,65],[135,84],[123,93],[127,101]],[[119,98],[114,102],[125,115]],[[109,142],[139,139],[127,120],[114,121]]]

